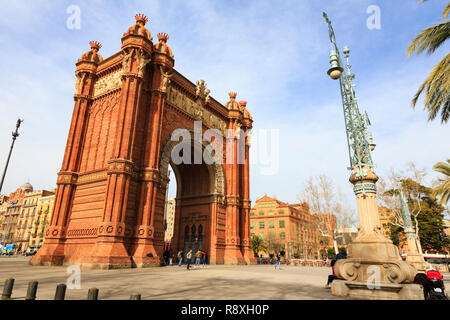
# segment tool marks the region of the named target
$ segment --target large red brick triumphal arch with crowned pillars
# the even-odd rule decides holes
[[[197,158],[220,139],[224,151],[238,150],[241,137],[226,132],[252,128],[246,102],[230,93],[224,106],[209,96],[203,80],[194,84],[178,73],[168,35],[159,33],[153,44],[146,22],[136,15],[116,54],[103,60],[101,44],[91,42],[76,63],[75,106],[54,211],[33,265],[159,265],[169,164],[178,186],[173,249],[198,248],[201,238],[210,263],[254,262],[248,135],[245,161],[225,160],[227,152],[209,153],[223,160],[212,163],[205,157],[182,163],[172,157],[186,157],[192,148],[188,158]],[[174,141],[177,129],[190,134],[192,147],[179,152],[189,141]],[[195,138],[195,132],[210,129],[223,136],[210,144]]]

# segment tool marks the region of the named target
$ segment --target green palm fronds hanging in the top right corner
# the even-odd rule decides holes
[[[425,2],[428,0],[420,0]],[[416,55],[427,50],[431,55],[448,38],[450,38],[450,2],[442,13],[444,21],[428,27],[411,41],[406,52],[407,56]],[[434,120],[440,112],[441,123],[446,123],[450,118],[450,53],[442,59],[431,71],[428,78],[420,86],[412,100],[412,107],[416,106],[419,96],[425,91],[425,110],[428,110],[428,121]]]

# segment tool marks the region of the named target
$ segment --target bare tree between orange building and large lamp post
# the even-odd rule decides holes
[[[309,205],[315,214],[321,237],[331,238],[337,253],[337,227],[350,227],[356,222],[354,210],[347,202],[342,189],[336,187],[332,178],[322,174],[309,177],[297,198]],[[336,216],[335,226],[330,223],[328,214]]]

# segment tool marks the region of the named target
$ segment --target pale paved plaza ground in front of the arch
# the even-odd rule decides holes
[[[0,257],[0,290],[5,279],[14,278],[12,298],[24,299],[28,282],[37,280],[37,299],[53,299],[56,286],[67,281],[67,267],[33,267],[28,261],[28,257]],[[324,289],[330,272],[327,267],[301,266],[275,271],[273,265],[81,270],[81,289],[68,289],[66,299],[85,300],[89,288],[96,287],[99,299],[129,299],[140,293],[150,300],[337,300]]]

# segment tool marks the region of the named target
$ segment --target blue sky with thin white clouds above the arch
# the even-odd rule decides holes
[[[326,11],[337,42],[351,49],[360,108],[367,110],[377,149],[376,172],[415,161],[431,167],[450,156],[450,127],[427,122],[410,101],[448,43],[432,56],[407,58],[420,30],[438,22],[447,1],[10,1],[0,13],[0,168],[11,131],[25,122],[3,193],[29,180],[54,188],[73,109],[75,62],[89,41],[103,44],[103,57],[120,50],[134,15],[147,28],[170,35],[175,68],[191,81],[206,80],[223,104],[228,92],[246,100],[254,130],[279,130],[279,170],[251,167],[251,198],[265,193],[296,202],[309,176],[327,174],[354,203],[348,183],[348,152],[338,83],[329,79]],[[70,5],[81,10],[81,28],[67,28]],[[381,29],[369,30],[370,5],[381,9]],[[431,175],[436,177],[436,175]]]

